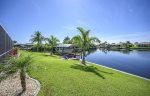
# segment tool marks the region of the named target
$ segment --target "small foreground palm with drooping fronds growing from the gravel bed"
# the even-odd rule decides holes
[[[0,72],[5,73],[5,76],[10,76],[16,72],[20,72],[20,80],[22,86],[22,92],[26,91],[26,70],[29,64],[32,62],[31,56],[18,56],[18,57],[11,57],[7,61],[3,62],[6,64],[0,64],[3,69]],[[1,78],[2,80],[2,78]]]

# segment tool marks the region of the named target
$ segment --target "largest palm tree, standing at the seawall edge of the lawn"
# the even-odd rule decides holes
[[[73,43],[79,44],[81,50],[82,50],[82,64],[85,64],[85,55],[86,50],[90,48],[90,45],[92,45],[94,42],[100,42],[100,40],[96,37],[90,37],[89,33],[90,30],[84,30],[81,27],[77,28],[80,32],[80,35],[74,36],[72,38]]]

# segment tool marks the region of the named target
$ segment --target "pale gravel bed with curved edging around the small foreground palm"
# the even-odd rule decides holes
[[[36,96],[40,90],[40,83],[30,78],[26,78],[27,90],[19,96]],[[0,96],[18,96],[22,92],[19,73],[16,73],[0,82]]]

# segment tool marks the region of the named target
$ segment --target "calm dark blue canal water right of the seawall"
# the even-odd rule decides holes
[[[97,49],[86,61],[150,79],[150,51],[107,51]]]

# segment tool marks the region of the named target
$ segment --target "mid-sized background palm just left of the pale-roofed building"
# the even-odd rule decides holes
[[[51,35],[47,38],[48,45],[51,46],[51,55],[54,53],[54,47],[59,43],[59,39]]]

